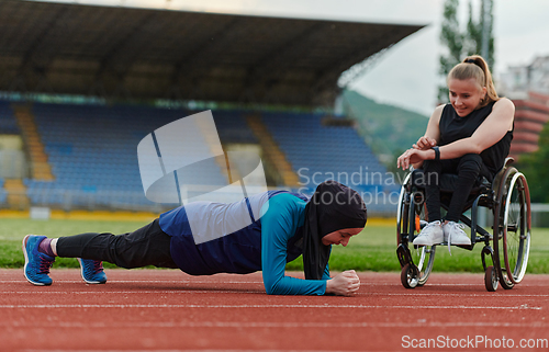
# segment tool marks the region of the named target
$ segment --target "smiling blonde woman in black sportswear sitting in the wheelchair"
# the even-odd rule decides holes
[[[513,139],[515,106],[497,96],[486,61],[478,55],[456,65],[447,77],[450,103],[440,105],[427,130],[402,154],[403,170],[422,167],[425,174],[426,225],[414,245],[471,245],[459,224],[460,215],[479,177],[492,181],[502,168]],[[441,173],[458,174],[446,218],[440,213]]]

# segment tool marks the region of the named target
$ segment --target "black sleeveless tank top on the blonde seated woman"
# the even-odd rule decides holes
[[[471,137],[477,128],[479,128],[479,126],[484,122],[488,115],[490,115],[494,103],[495,102],[492,102],[484,107],[474,110],[472,113],[464,117],[458,116],[456,110],[453,110],[451,104],[446,104],[439,122],[439,145],[445,146],[458,139]],[[500,169],[503,167],[505,158],[509,154],[511,140],[513,140],[513,129],[507,130],[505,136],[503,136],[500,141],[480,154],[482,161],[490,170],[492,175],[495,175],[497,171],[500,171]]]

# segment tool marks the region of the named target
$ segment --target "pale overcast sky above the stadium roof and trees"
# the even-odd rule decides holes
[[[472,1],[478,14],[481,0]],[[424,29],[386,50],[360,77],[349,84],[380,103],[390,103],[430,115],[437,101],[437,87],[445,82],[438,75],[444,0],[58,0],[159,8],[214,13],[239,13],[287,18],[327,19],[376,23],[423,24]],[[460,23],[468,21],[469,0],[460,0]],[[530,64],[549,56],[549,1],[494,1],[494,78],[509,66]]]

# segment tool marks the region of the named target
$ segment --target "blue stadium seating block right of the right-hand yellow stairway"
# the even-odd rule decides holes
[[[374,213],[391,212],[400,185],[388,179],[382,166],[358,133],[349,126],[324,126],[321,114],[264,113],[294,171],[300,191],[312,194],[317,183],[335,179],[362,194]]]

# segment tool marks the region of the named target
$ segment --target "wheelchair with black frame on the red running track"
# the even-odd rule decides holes
[[[505,289],[519,284],[528,264],[530,193],[525,175],[511,166],[513,161],[513,158],[506,158],[503,168],[492,182],[485,178],[479,179],[460,216],[460,222],[471,229],[471,245],[458,247],[472,250],[475,243],[484,243],[481,260],[484,269],[484,286],[489,292],[495,292],[497,283]],[[448,211],[456,179],[456,174],[440,175],[440,204],[445,211]],[[406,175],[396,212],[396,256],[402,268],[401,283],[406,288],[425,285],[433,271],[437,249],[436,245],[421,247],[413,245],[416,236],[427,224],[425,191],[419,181],[423,181],[422,169],[413,170]],[[491,211],[492,231],[479,225],[479,207]],[[490,262],[486,263],[486,257],[490,257],[492,265],[489,265]]]

